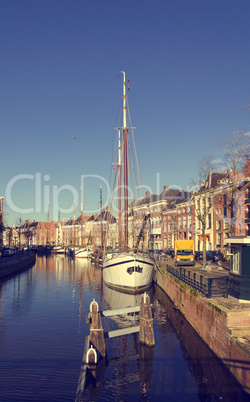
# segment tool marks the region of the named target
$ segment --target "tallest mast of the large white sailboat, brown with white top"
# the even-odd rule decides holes
[[[124,156],[124,247],[128,249],[128,129],[125,72],[123,74],[123,156]]]

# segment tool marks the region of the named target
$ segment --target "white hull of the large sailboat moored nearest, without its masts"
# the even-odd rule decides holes
[[[103,281],[125,292],[141,292],[153,280],[154,260],[147,254],[118,253],[103,264]]]

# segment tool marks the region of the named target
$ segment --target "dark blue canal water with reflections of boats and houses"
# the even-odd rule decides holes
[[[155,347],[139,345],[138,334],[109,339],[81,400],[249,401],[168,297],[149,293]],[[139,304],[107,288],[99,267],[60,255],[0,282],[0,401],[75,400],[93,299],[100,309]],[[133,315],[103,321],[105,331],[134,324]]]

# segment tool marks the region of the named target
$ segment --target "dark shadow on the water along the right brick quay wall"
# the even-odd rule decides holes
[[[164,310],[161,310],[163,315],[161,319],[168,318],[174,327],[180,340],[183,358],[196,380],[199,400],[210,401],[208,395],[213,395],[215,400],[221,401],[250,401],[250,396],[243,391],[241,385],[199,337],[181,312],[174,308],[168,296],[157,286],[154,292],[155,309],[159,302],[164,307]]]

